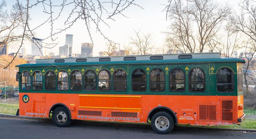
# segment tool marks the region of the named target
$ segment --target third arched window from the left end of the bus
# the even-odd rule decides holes
[[[56,75],[54,71],[47,71],[44,75],[45,79],[45,90],[55,90],[56,89]]]

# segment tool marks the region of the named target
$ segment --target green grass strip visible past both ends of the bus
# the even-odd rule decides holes
[[[19,108],[19,104],[8,104],[8,103],[0,103],[0,113],[16,115],[17,109]],[[246,108],[244,109],[244,113],[248,117],[256,117],[256,109]],[[179,126],[189,126],[189,125],[179,125]],[[232,125],[221,125],[221,126],[204,126],[206,128],[225,128],[225,129],[256,129],[256,118],[247,118],[240,125],[232,124]]]

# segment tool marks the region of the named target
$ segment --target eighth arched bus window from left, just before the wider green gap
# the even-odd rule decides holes
[[[126,73],[122,69],[117,69],[113,73],[113,90],[126,91]]]

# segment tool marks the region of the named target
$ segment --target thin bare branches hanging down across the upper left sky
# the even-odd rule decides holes
[[[20,46],[17,50],[17,53],[23,46],[25,39],[34,42],[34,40],[31,40],[31,37],[35,37],[35,32],[37,32],[37,30],[42,27],[49,28],[48,36],[42,39],[49,40],[52,43],[46,44],[46,46],[38,46],[38,49],[42,47],[53,48],[58,43],[57,35],[74,26],[74,23],[79,20],[82,20],[84,22],[84,25],[86,26],[86,32],[89,33],[89,37],[92,43],[93,35],[91,31],[93,31],[93,29],[91,29],[91,27],[95,28],[94,31],[101,34],[101,36],[106,39],[108,43],[113,43],[111,39],[108,39],[108,37],[101,30],[101,28],[102,26],[110,27],[107,24],[107,19],[114,20],[116,15],[122,15],[125,17],[123,13],[130,6],[137,6],[142,8],[135,3],[135,0],[37,0],[31,3],[29,0],[27,0],[25,6],[20,3],[20,0],[17,0],[16,9],[18,10],[18,15],[20,17],[22,17],[21,15],[23,15],[20,23],[23,33],[20,35]],[[45,21],[43,21],[42,23],[30,26],[29,10],[39,7],[43,8],[42,12],[48,15],[48,18],[46,18]],[[64,21],[61,21],[60,17],[65,17]],[[59,24],[55,25],[58,22],[63,22],[64,26],[60,26]],[[37,42],[34,43],[39,44]],[[9,64],[7,65],[7,67],[17,57],[17,53],[14,55],[12,60],[8,61]]]

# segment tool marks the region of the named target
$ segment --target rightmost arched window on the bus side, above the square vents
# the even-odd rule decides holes
[[[232,92],[234,90],[234,73],[230,68],[223,67],[217,71],[217,91]]]

